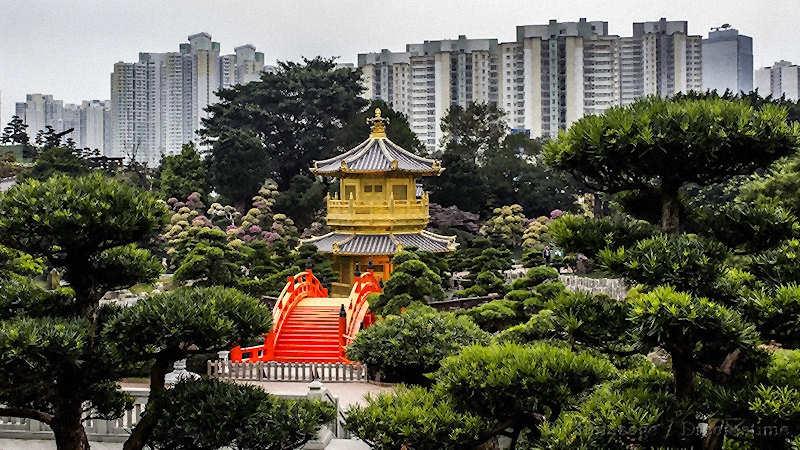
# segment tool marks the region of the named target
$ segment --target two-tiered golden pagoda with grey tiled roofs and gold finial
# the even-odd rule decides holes
[[[391,257],[406,247],[443,253],[455,250],[455,236],[425,230],[428,194],[417,178],[437,176],[439,161],[417,156],[386,137],[388,119],[375,110],[367,119],[369,138],[333,158],[314,161],[316,175],[339,178],[339,193],[327,198],[332,232],[303,240],[330,253],[340,288],[353,282],[356,270],[370,267],[383,280],[392,273]]]

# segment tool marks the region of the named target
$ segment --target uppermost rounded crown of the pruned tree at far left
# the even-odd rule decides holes
[[[87,267],[93,261],[109,262],[111,255],[125,262],[122,249],[111,249],[146,241],[165,220],[166,208],[155,197],[97,174],[31,180],[0,197],[0,243],[61,267],[86,306],[105,290],[152,279],[151,270],[96,273]],[[146,259],[136,251],[135,261]]]

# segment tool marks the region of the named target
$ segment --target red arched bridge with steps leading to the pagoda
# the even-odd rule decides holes
[[[355,277],[349,297],[328,297],[310,269],[289,277],[272,310],[264,344],[231,349],[232,362],[349,362],[345,348],[374,315],[367,297],[381,291],[375,274]]]

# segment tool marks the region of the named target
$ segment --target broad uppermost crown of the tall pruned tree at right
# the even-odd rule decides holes
[[[675,232],[684,184],[747,175],[797,150],[800,125],[786,117],[786,108],[769,103],[648,97],[578,120],[545,154],[595,190],[659,195],[661,228]]]

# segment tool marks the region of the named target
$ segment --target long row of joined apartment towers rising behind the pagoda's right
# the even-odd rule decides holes
[[[363,95],[405,113],[429,150],[451,105],[495,104],[512,131],[554,136],[645,95],[700,90],[703,73],[701,37],[666,19],[634,23],[628,37],[609,35],[607,22],[551,20],[518,26],[514,42],[425,41],[359,54],[358,66]]]

